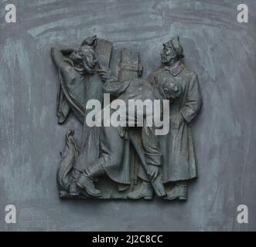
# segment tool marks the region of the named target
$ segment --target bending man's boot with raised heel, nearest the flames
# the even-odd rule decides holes
[[[104,169],[100,164],[94,164],[85,169],[84,173],[80,175],[77,180],[77,185],[87,191],[88,195],[93,197],[100,197],[101,191],[94,186],[94,179],[104,174]]]

